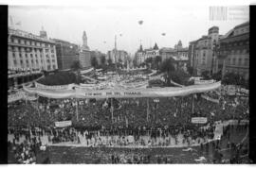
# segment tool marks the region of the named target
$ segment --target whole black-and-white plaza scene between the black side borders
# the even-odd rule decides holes
[[[8,164],[248,164],[249,6],[8,6]]]

